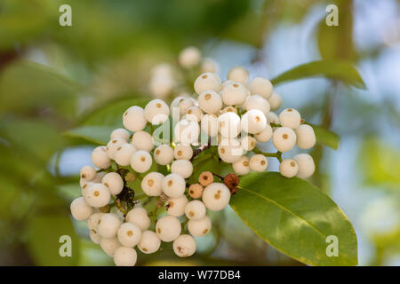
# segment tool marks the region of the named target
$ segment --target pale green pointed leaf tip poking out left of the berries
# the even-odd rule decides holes
[[[64,132],[64,136],[82,138],[94,144],[106,145],[113,130],[115,127],[110,126],[79,126]]]

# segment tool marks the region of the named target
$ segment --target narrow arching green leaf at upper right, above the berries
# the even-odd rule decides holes
[[[271,82],[276,85],[312,77],[326,77],[365,89],[364,81],[356,68],[348,62],[339,60],[319,60],[302,64],[276,76]]]

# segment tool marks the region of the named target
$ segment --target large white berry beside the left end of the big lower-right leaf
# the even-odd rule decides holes
[[[230,200],[230,191],[227,185],[212,183],[204,188],[202,198],[207,209],[220,211],[227,207]]]

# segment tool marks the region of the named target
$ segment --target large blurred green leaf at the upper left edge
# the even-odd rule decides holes
[[[0,111],[26,111],[48,106],[64,110],[73,104],[73,96],[82,90],[82,85],[50,67],[19,61],[0,74]]]

